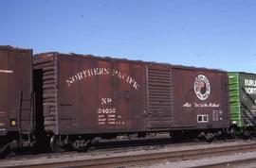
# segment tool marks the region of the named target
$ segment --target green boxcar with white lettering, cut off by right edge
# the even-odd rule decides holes
[[[256,126],[256,75],[229,73],[230,122],[239,127]]]

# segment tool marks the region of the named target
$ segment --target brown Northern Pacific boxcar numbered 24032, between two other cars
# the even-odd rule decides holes
[[[229,127],[223,71],[59,53],[36,55],[34,69],[54,151],[95,137]]]

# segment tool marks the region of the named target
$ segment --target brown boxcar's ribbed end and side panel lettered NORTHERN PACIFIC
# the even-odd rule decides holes
[[[46,59],[49,62],[44,61]],[[46,63],[54,67],[54,79],[51,82],[46,74]],[[36,56],[34,65],[44,72],[47,131],[80,134],[145,130],[147,117],[144,64],[48,53]],[[51,103],[48,102],[47,95],[53,95]],[[50,113],[50,109],[56,111]],[[48,122],[50,116],[53,118]]]

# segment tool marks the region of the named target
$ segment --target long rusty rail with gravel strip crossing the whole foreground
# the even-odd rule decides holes
[[[29,168],[41,168],[41,167],[90,167],[90,168],[105,168],[105,167],[126,167],[131,165],[138,165],[142,163],[154,163],[162,160],[192,160],[204,157],[230,155],[236,152],[248,152],[256,151],[256,143],[244,143],[244,144],[227,144],[222,146],[210,146],[203,145],[204,147],[198,147],[195,149],[181,149],[172,151],[147,151],[146,153],[125,153],[116,154],[110,156],[100,156],[93,158],[86,158],[86,154],[71,159],[57,160],[30,160],[26,163],[16,163],[13,165],[2,166],[7,167],[29,167]]]

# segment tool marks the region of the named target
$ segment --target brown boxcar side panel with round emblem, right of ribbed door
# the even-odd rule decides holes
[[[229,126],[228,76],[226,72],[174,67],[173,126],[188,128],[221,128]],[[210,92],[206,99],[196,95],[197,76],[205,76]],[[200,84],[200,80],[197,84]],[[206,92],[206,91],[204,91]],[[208,115],[209,121],[198,123],[197,115]],[[213,119],[214,115],[214,119]]]

